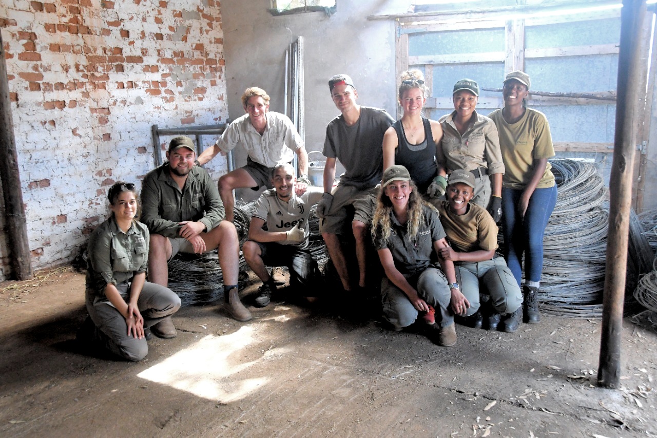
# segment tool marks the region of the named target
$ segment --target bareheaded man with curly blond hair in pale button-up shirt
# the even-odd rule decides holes
[[[233,222],[233,189],[260,187],[271,189],[271,172],[278,162],[291,162],[298,156],[300,176],[298,184],[308,184],[308,155],[301,136],[292,120],[279,112],[269,111],[269,95],[258,87],[250,87],[242,95],[246,114],[232,122],[216,143],[198,156],[198,164],[206,164],[221,152],[222,155],[242,145],[248,157],[246,166],[219,178],[219,195],[226,209],[226,220]]]

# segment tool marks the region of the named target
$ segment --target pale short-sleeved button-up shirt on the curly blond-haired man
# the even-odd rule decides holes
[[[262,135],[253,127],[248,114],[244,114],[226,128],[216,145],[224,152],[242,145],[248,156],[265,167],[279,162],[290,162],[294,151],[304,147],[292,120],[279,112],[267,112],[267,126]]]

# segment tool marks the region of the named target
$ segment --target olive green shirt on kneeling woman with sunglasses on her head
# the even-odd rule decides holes
[[[105,297],[108,284],[125,283],[135,274],[146,272],[149,241],[144,224],[133,222],[124,233],[114,216],[93,230],[87,243],[88,293],[94,298]]]

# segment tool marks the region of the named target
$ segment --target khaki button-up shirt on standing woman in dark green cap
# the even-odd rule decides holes
[[[436,153],[436,162],[445,167],[447,173],[457,169],[472,172],[479,167],[488,169],[488,174],[504,174],[504,162],[499,148],[499,137],[493,120],[474,111],[474,123],[461,135],[454,124],[456,111],[442,116],[440,126],[443,138]]]

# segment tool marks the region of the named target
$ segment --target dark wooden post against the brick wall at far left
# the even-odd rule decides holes
[[[11,116],[9,83],[7,82],[7,63],[5,49],[0,34],[0,176],[5,197],[5,229],[7,247],[11,258],[11,278],[29,280],[32,278],[30,264],[30,245],[28,228],[23,207],[23,193],[20,190],[18,155],[14,139],[14,122]]]

